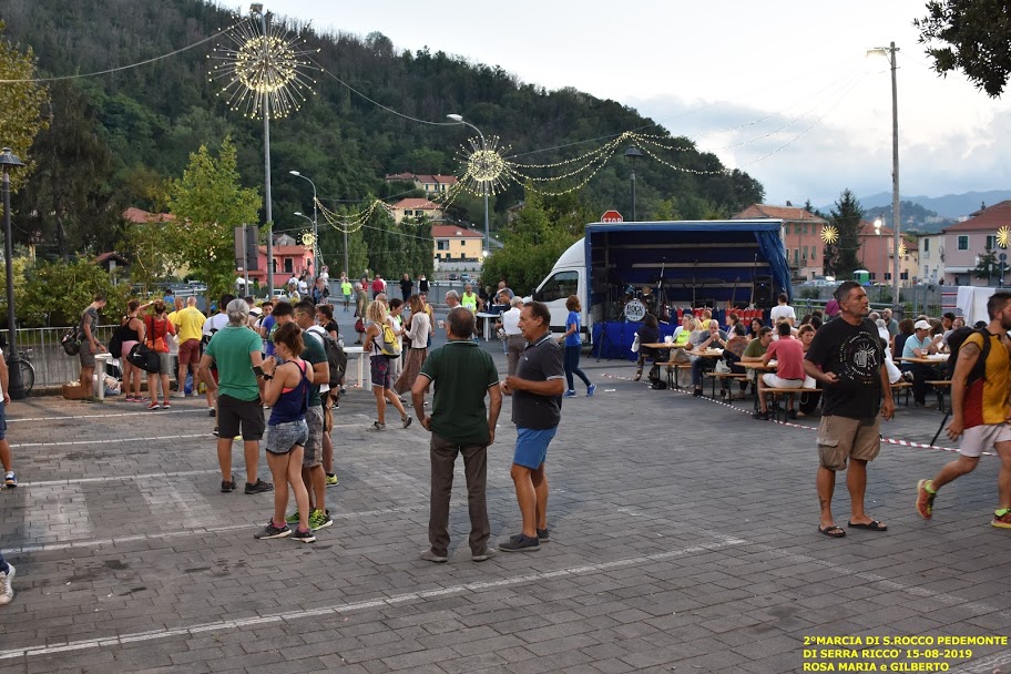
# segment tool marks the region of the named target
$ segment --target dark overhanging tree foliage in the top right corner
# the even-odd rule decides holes
[[[913,21],[919,41],[940,74],[961,70],[999,98],[1011,76],[1011,21],[1005,0],[931,0],[928,14]]]

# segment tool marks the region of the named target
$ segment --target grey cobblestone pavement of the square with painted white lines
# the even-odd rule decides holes
[[[336,522],[314,545],[253,539],[273,494],[219,493],[202,399],[157,412],[16,402],[21,486],[0,493],[0,547],[17,596],[0,609],[0,672],[769,674],[813,663],[806,637],[1009,633],[994,457],[925,522],[916,481],[953,455],[885,445],[867,504],[889,531],[830,540],[816,531],[817,420],[759,422],[750,402],[650,390],[631,364],[583,366],[599,389],[565,400],[549,452],[551,542],[481,564],[462,466],[450,562],[418,559],[428,433],[367,432],[361,390],[336,412]],[[519,530],[510,407],[489,450],[493,540]],[[926,443],[941,417],[900,406],[884,432]],[[234,463],[242,480],[238,449]],[[835,512],[845,524],[842,476]],[[971,649],[944,662],[988,674],[1011,663],[1007,647]]]

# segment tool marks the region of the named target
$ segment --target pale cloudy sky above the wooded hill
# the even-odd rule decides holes
[[[925,4],[286,0],[265,8],[319,31],[378,31],[398,50],[427,45],[525,83],[617,101],[746,171],[769,204],[824,206],[845,188],[858,197],[891,192],[891,74],[886,57],[866,52],[893,41],[901,194],[1009,188],[1011,92],[990,99],[961,73],[931,70],[912,25]]]

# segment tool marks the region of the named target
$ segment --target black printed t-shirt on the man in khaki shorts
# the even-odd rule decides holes
[[[821,413],[850,419],[874,418],[880,410],[885,349],[877,326],[829,320],[815,333],[806,360],[835,372],[838,384],[823,384]]]

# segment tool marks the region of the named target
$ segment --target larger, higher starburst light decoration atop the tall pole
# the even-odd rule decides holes
[[[265,112],[287,116],[302,108],[308,93],[315,93],[310,73],[318,68],[309,54],[319,50],[307,49],[306,41],[283,24],[270,23],[266,30],[264,34],[259,21],[239,21],[225,33],[229,43],[207,55],[219,61],[208,78],[221,84],[217,95],[247,118],[262,118]]]

